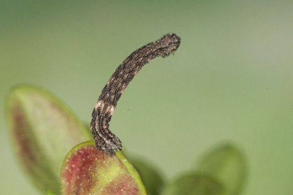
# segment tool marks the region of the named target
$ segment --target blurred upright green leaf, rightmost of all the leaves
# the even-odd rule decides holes
[[[197,170],[222,182],[228,195],[238,195],[246,178],[244,157],[230,144],[211,151],[200,161]]]

